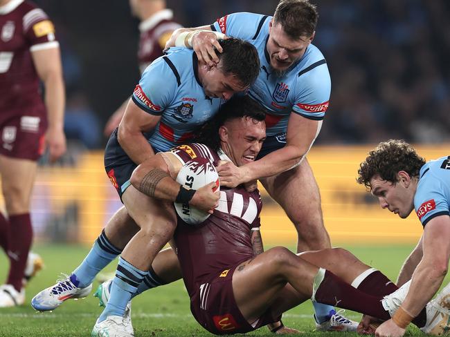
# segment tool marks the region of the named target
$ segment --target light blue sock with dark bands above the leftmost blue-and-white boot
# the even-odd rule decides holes
[[[120,253],[122,251],[109,242],[105,235],[105,230],[103,230],[96,242],[93,243],[92,249],[86,258],[73,271],[71,281],[76,287],[87,287],[92,283],[98,272],[105,268]]]

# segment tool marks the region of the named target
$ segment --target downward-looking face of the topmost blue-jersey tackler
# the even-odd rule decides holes
[[[271,21],[266,48],[272,68],[279,72],[287,70],[303,57],[313,38],[314,34],[311,37],[303,36],[299,39],[292,39],[286,34],[280,23],[273,24]]]

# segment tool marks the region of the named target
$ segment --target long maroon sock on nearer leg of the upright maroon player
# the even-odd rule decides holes
[[[33,239],[33,228],[31,227],[30,213],[10,216],[10,242],[8,247],[8,256],[11,267],[8,285],[13,285],[17,291],[22,287],[22,279],[26,267],[28,252]]]

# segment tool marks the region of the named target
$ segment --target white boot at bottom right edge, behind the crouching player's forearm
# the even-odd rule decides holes
[[[426,325],[420,328],[425,334],[441,336],[450,330],[450,283],[434,300],[426,305]]]

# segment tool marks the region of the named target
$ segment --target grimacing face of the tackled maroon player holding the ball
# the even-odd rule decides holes
[[[222,149],[235,163],[242,166],[253,162],[266,139],[266,123],[249,117],[231,119],[219,129]]]

